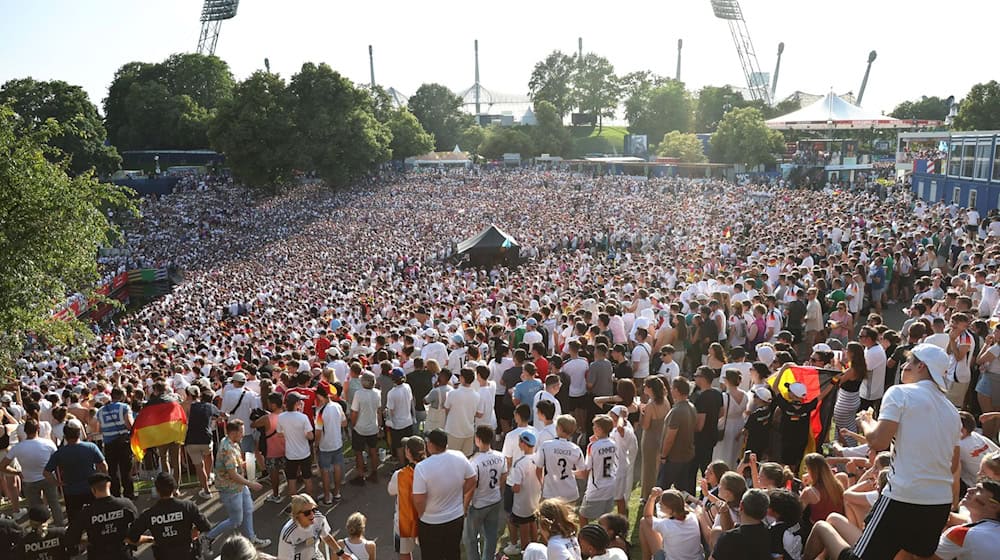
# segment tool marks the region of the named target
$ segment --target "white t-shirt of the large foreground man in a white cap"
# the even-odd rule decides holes
[[[951,459],[962,427],[955,405],[930,380],[893,385],[879,420],[899,423],[882,494],[908,504],[950,504]]]

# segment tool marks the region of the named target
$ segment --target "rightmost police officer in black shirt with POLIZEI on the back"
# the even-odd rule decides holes
[[[139,514],[128,532],[128,540],[136,545],[146,531],[153,535],[155,560],[196,560],[201,557],[201,546],[195,541],[200,533],[212,528],[198,506],[190,500],[174,498],[177,481],[170,473],[156,476],[159,500]],[[194,530],[197,529],[197,533]]]

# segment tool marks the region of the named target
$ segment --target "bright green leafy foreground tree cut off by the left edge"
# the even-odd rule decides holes
[[[134,211],[126,190],[85,172],[66,173],[45,157],[54,121],[29,134],[13,111],[0,107],[0,364],[10,364],[34,333],[68,343],[84,325],[53,320],[67,293],[91,293],[97,250],[114,238],[107,210]]]

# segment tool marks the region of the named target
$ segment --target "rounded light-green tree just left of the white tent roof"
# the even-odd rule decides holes
[[[767,128],[756,107],[733,109],[722,117],[712,135],[712,159],[742,163],[747,167],[774,163],[774,154],[784,149],[781,133]]]

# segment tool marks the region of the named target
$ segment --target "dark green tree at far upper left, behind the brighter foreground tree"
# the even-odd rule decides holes
[[[58,80],[11,80],[0,87],[0,105],[14,110],[18,134],[31,134],[49,119],[59,123],[59,135],[48,139],[48,144],[58,149],[51,157],[68,159],[67,169],[73,175],[90,169],[109,174],[118,169],[121,156],[105,144],[104,123],[80,86]]]

